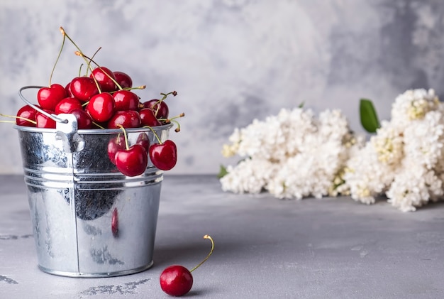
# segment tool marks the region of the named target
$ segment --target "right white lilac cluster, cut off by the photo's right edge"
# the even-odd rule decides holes
[[[433,89],[411,89],[396,97],[391,121],[382,122],[365,148],[347,163],[345,185],[353,199],[377,195],[404,212],[440,200],[444,178],[443,105]]]

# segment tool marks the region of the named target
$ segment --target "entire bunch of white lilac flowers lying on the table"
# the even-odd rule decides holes
[[[442,200],[443,104],[433,89],[411,89],[396,97],[391,115],[367,143],[337,109],[255,119],[223,146],[224,156],[246,159],[228,166],[222,189],[288,199],[350,195],[366,204],[386,195],[404,212]]]

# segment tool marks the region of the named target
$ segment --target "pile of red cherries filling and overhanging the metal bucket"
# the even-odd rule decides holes
[[[62,27],[60,32],[63,35],[63,42],[65,43],[65,38],[68,38],[77,48],[75,54],[87,62],[87,72],[83,76],[74,77],[65,86],[51,84],[51,73],[49,86],[38,89],[38,105],[21,107],[14,116],[16,124],[55,129],[56,121],[50,116],[73,114],[77,119],[77,129],[80,130],[121,129],[122,134],[109,141],[108,156],[111,163],[115,164],[123,175],[135,176],[144,173],[148,167],[148,156],[156,168],[172,169],[177,162],[176,144],[171,140],[162,142],[153,127],[170,124],[173,121],[177,124],[175,131],[179,131],[179,123],[174,119],[184,114],[169,119],[169,109],[165,104],[167,96],[170,94],[176,96],[177,92],[161,94],[161,99],[141,102],[133,90],[144,89],[145,86],[133,87],[133,80],[125,72],[112,71],[108,67],[98,65],[92,58],[82,53]],[[55,65],[52,72],[55,70]],[[137,143],[129,146],[126,129],[142,127],[149,128],[157,142],[150,144],[148,135],[142,133]]]

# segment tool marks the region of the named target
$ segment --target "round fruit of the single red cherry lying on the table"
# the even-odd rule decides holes
[[[193,286],[192,273],[180,265],[165,268],[160,274],[160,288],[172,296],[182,296],[189,292]]]

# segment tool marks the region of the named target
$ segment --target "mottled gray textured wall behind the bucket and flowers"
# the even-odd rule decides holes
[[[23,85],[48,85],[63,26],[84,53],[123,70],[148,99],[177,90],[185,112],[172,132],[170,173],[216,173],[235,126],[301,102],[342,109],[355,131],[360,97],[389,118],[397,94],[444,95],[444,2],[440,0],[2,0],[0,112],[15,114]],[[67,45],[53,82],[81,63]],[[0,173],[21,173],[17,133],[0,124]]]

